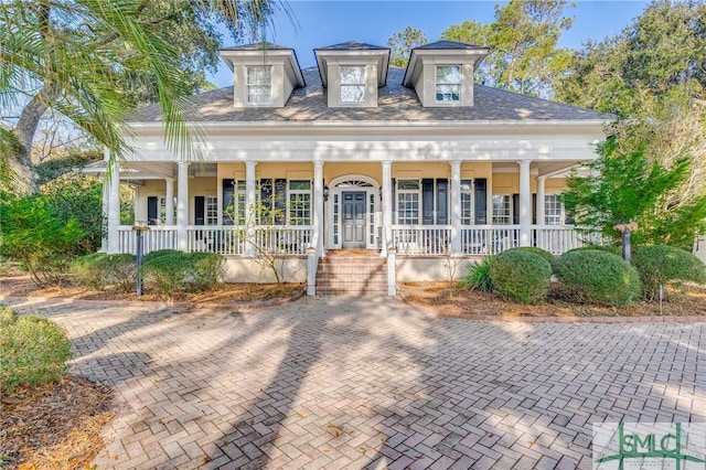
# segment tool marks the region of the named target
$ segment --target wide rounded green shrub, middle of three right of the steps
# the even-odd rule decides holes
[[[640,298],[638,271],[618,255],[574,249],[561,255],[554,268],[576,301],[625,307]]]

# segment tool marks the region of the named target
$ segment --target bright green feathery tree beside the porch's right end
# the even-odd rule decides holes
[[[623,147],[614,136],[598,152],[600,158],[589,164],[591,174],[569,178],[563,194],[579,229],[599,231],[617,244],[620,233],[613,226],[635,222],[635,244],[691,247],[704,229],[706,194],[680,206],[670,203],[672,191],[689,177],[691,158],[665,167],[646,157],[644,143]]]

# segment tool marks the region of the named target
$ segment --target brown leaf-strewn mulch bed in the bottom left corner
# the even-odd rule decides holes
[[[114,417],[113,392],[72,375],[4,393],[0,406],[3,469],[89,468]]]

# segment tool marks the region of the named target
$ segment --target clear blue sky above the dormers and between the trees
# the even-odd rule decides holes
[[[502,2],[504,3],[504,2]],[[302,68],[315,65],[313,49],[345,41],[387,45],[387,39],[406,26],[421,30],[429,41],[437,40],[451,24],[466,20],[493,21],[494,1],[480,0],[289,0],[293,21],[279,14],[268,41],[295,49]],[[645,1],[577,1],[566,14],[575,17],[574,26],[564,33],[561,45],[579,47],[588,39],[602,40],[628,26],[644,10]],[[233,45],[226,34],[225,45]],[[218,87],[233,84],[228,67],[222,63],[211,81]]]

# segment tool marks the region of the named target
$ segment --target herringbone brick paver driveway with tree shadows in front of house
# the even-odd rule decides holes
[[[706,421],[704,323],[441,320],[394,299],[18,307],[117,389],[100,469],[590,468],[591,423]]]

